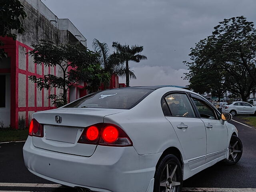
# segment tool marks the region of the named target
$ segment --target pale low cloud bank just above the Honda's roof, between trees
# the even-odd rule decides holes
[[[186,69],[173,69],[167,66],[139,66],[132,67],[137,79],[130,81],[130,86],[154,86],[154,85],[188,85],[184,77]],[[120,83],[125,83],[125,79],[120,78]]]

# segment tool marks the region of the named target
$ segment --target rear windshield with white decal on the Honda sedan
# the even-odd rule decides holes
[[[112,108],[130,109],[143,100],[152,89],[112,89],[84,96],[64,108]]]

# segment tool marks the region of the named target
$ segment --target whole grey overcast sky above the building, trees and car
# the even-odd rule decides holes
[[[179,85],[188,82],[182,63],[190,48],[211,34],[224,18],[245,16],[256,23],[255,0],[42,0],[58,18],[69,18],[92,40],[143,45],[148,60],[130,62],[137,80],[130,86]],[[120,79],[120,82],[125,80]]]

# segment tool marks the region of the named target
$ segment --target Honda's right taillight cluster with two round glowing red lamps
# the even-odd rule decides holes
[[[116,147],[132,146],[132,141],[120,127],[108,123],[98,123],[84,128],[78,143]]]

